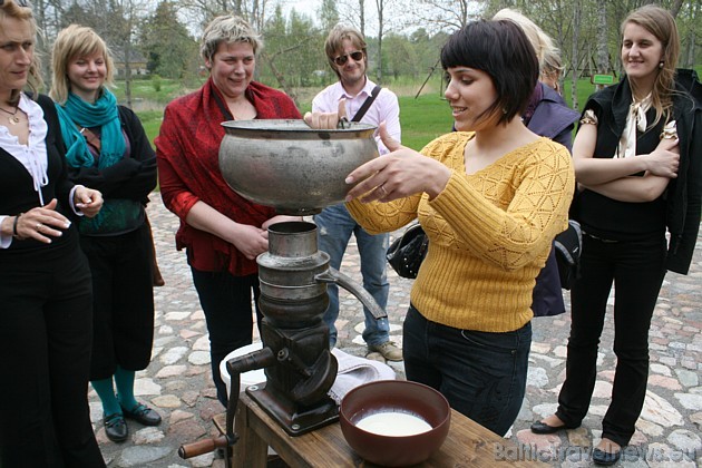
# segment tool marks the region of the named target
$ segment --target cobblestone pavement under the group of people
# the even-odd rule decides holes
[[[214,455],[182,460],[182,443],[215,435],[212,417],[223,411],[215,398],[209,371],[205,318],[191,281],[184,252],[175,250],[178,221],[152,196],[148,214],[154,228],[158,263],[166,285],[154,290],[156,325],[150,365],[137,373],[137,399],[160,412],[159,427],[145,428],[128,420],[129,439],[117,445],[103,428],[101,406],[90,391],[91,417],[104,457],[109,467],[223,467]],[[355,245],[349,247],[342,271],[360,282]],[[401,323],[409,305],[411,281],[389,271],[388,314],[391,339],[401,344]],[[651,373],[643,413],[622,467],[702,466],[702,238],[698,242],[690,275],[669,274],[663,285],[651,328]],[[339,345],[357,355],[365,354],[360,338],[363,313],[360,303],[341,291],[338,322]],[[601,435],[601,420],[612,389],[615,357],[612,352],[612,320],[603,334],[598,359],[601,369],[588,416],[579,429],[567,433],[535,436],[533,420],[550,415],[564,378],[569,319],[539,318],[534,322],[527,396],[508,438],[519,450],[495,448],[495,466],[500,459],[533,459],[558,467],[589,466],[588,448]],[[400,377],[401,363],[390,363]],[[470,442],[466,442],[470,450]],[[324,461],[320,460],[320,467]]]

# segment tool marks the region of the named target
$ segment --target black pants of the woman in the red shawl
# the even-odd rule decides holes
[[[226,407],[228,394],[220,376],[220,362],[232,351],[252,342],[252,293],[261,330],[259,275],[234,276],[228,272],[191,270],[209,333],[212,379],[217,388],[217,399]]]

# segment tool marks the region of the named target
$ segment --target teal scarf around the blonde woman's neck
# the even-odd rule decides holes
[[[95,104],[86,103],[70,92],[66,104],[62,106],[57,104],[56,109],[61,121],[61,135],[68,148],[66,159],[69,165],[95,166],[95,158],[76,124],[88,128],[101,127],[98,168],[113,166],[123,158],[126,145],[121,135],[117,98],[108,89],[103,89],[100,98]]]

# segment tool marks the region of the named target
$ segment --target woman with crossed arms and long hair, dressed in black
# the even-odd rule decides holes
[[[688,273],[702,199],[702,108],[688,92],[699,96],[700,84],[675,70],[675,20],[646,6],[626,17],[621,33],[626,75],[591,96],[573,147],[582,188],[573,214],[584,236],[582,277],[571,291],[566,380],[556,413],[532,425],[550,433],[581,426],[587,415],[614,283],[617,359],[593,452],[599,465],[615,464],[634,433],[646,394],[653,310],[665,272]]]

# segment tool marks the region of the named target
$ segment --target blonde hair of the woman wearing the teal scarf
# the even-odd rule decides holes
[[[114,84],[113,76],[115,64],[107,43],[92,28],[80,25],[70,25],[64,28],[53,42],[51,50],[51,89],[49,96],[59,104],[68,100],[70,80],[68,79],[68,65],[76,57],[88,57],[100,53],[105,59],[105,86]]]

